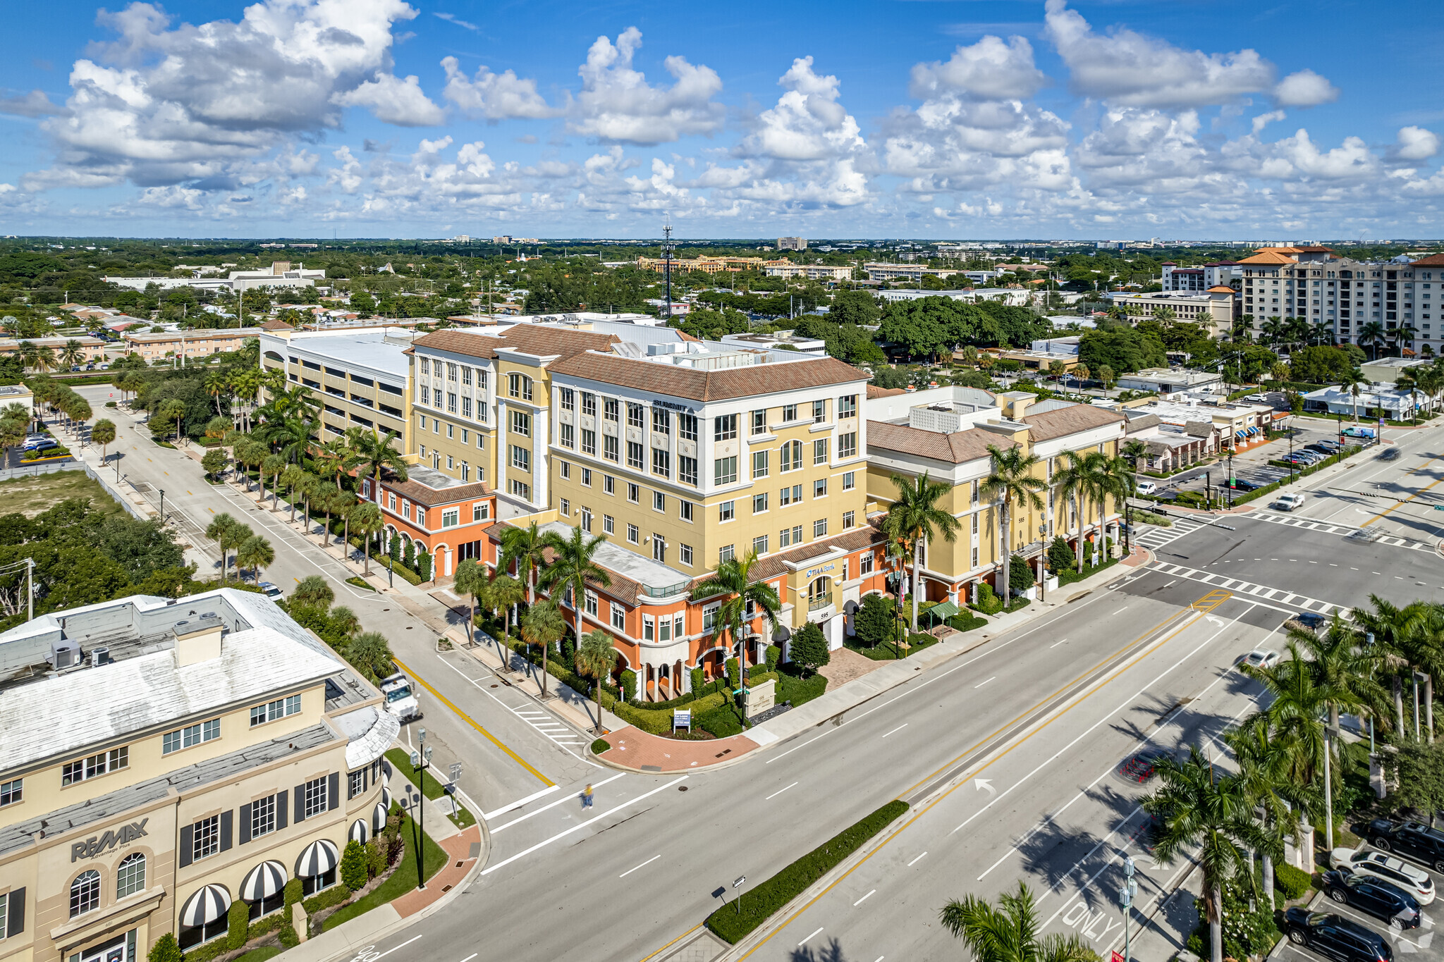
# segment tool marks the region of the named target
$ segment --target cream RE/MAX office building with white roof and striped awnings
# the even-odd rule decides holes
[[[378,692],[266,597],[133,596],[0,635],[0,952],[140,962],[336,884],[384,825]]]

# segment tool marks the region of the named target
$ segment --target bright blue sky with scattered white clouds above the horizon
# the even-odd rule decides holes
[[[12,4],[0,234],[1437,238],[1437,3]]]

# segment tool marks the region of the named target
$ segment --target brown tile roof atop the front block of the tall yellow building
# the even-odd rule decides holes
[[[596,352],[578,353],[552,365],[552,374],[588,378],[693,401],[748,398],[778,391],[801,391],[827,384],[866,381],[868,374],[836,358],[758,363],[723,371],[696,371],[656,361]]]

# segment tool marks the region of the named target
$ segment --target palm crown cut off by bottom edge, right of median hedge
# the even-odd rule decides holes
[[[1043,923],[1032,893],[1024,883],[1018,890],[998,896],[993,907],[986,899],[967,896],[943,906],[943,927],[963,940],[975,962],[1096,962],[1097,955],[1076,935],[1041,936]]]

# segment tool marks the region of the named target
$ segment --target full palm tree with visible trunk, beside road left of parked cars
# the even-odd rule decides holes
[[[1161,785],[1144,800],[1144,809],[1158,819],[1154,857],[1167,865],[1197,845],[1210,958],[1223,962],[1223,884],[1246,877],[1252,886],[1248,852],[1271,844],[1253,824],[1253,799],[1243,779],[1217,776],[1199,749],[1190,747],[1183,763],[1171,756],[1158,759],[1155,772]]]

